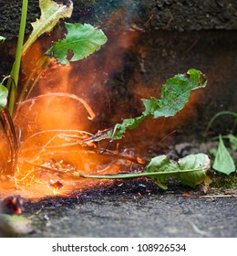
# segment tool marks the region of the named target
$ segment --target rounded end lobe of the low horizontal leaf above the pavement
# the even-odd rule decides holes
[[[187,155],[178,161],[180,170],[193,170],[193,172],[182,173],[179,177],[182,184],[195,187],[206,179],[206,171],[211,167],[208,155],[196,154]]]

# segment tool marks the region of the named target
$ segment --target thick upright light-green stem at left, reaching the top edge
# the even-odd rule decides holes
[[[28,0],[23,0],[22,10],[21,10],[20,29],[19,29],[18,41],[17,41],[16,53],[15,53],[15,63],[11,71],[11,76],[15,80],[15,87],[11,86],[11,88],[9,88],[9,90],[11,90],[10,101],[9,101],[9,112],[11,115],[13,114],[14,108],[15,108],[15,95],[16,95],[17,84],[19,80],[19,71],[21,66],[22,47],[24,43],[24,36],[25,36],[25,29],[26,29],[27,8],[28,8]]]

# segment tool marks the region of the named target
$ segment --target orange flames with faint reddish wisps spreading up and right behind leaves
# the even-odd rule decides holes
[[[124,10],[119,10],[110,16],[108,25],[118,23],[123,16]],[[149,98],[151,95],[159,97],[161,82],[149,86],[142,83],[141,76],[145,71],[142,58],[149,49],[134,45],[139,33],[134,29],[108,31],[108,44],[92,57],[73,63],[70,67],[51,63],[50,69],[42,74],[36,84],[31,98],[18,105],[15,115],[15,127],[20,141],[18,163],[15,176],[0,175],[0,197],[15,193],[32,199],[70,195],[111,182],[71,174],[103,175],[132,168],[129,158],[119,159],[101,154],[107,144],[98,146],[81,144],[81,141],[88,137],[88,133],[108,128],[119,123],[122,118],[139,115],[143,111],[141,98]],[[45,52],[45,44],[45,39],[38,40],[26,52],[23,60],[26,76],[35,69],[37,59]],[[141,72],[134,75],[128,71],[130,78],[126,82],[129,97],[124,100],[121,99],[121,91],[126,91],[122,87],[124,81],[118,81],[121,82],[119,87],[118,84],[114,86],[113,79],[128,65],[124,61],[128,50],[140,56]],[[24,83],[25,79],[22,81]],[[181,117],[178,114],[165,123],[163,120],[149,119],[132,134],[128,133],[121,144],[126,148],[124,154],[134,156],[134,152],[137,152],[143,156],[144,150],[147,151],[151,144],[159,144],[161,138],[172,133],[178,123],[190,116],[191,106],[198,99],[198,94],[195,95]],[[129,151],[128,148],[133,148],[134,144],[139,150]],[[0,147],[4,148],[5,144],[1,143]],[[117,148],[113,150],[115,153],[122,151],[117,151]],[[144,164],[139,157],[137,163]]]

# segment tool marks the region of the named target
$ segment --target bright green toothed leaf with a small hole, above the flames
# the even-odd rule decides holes
[[[107,37],[102,30],[89,24],[66,23],[67,37],[55,43],[46,51],[46,55],[54,57],[61,64],[69,64],[69,61],[77,61],[87,58],[107,42]],[[73,52],[71,59],[67,57],[68,51]]]

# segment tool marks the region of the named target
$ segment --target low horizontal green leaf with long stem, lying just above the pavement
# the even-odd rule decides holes
[[[147,176],[163,189],[167,189],[166,182],[170,177],[178,177],[182,184],[195,187],[205,181],[210,183],[210,178],[206,175],[207,170],[210,168],[210,162],[208,155],[204,154],[187,155],[180,158],[178,163],[171,161],[166,155],[159,155],[152,158],[149,165],[146,166],[145,171],[141,173],[103,176],[71,174],[71,176],[101,179],[125,179]]]

